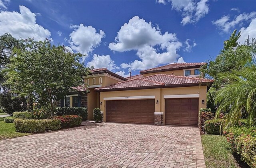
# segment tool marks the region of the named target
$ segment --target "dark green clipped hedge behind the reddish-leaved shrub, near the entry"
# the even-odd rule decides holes
[[[88,109],[86,107],[58,107],[54,115],[79,115],[83,121],[87,120]]]

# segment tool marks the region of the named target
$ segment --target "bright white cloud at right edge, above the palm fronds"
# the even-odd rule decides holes
[[[256,38],[256,18],[253,19],[248,27],[242,27],[239,31],[241,31],[240,41],[244,42],[245,39]]]

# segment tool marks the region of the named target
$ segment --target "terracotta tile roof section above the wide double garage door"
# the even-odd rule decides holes
[[[110,86],[96,88],[94,90],[114,90],[114,89],[122,89],[122,88],[142,88],[142,87],[150,87],[150,86],[163,86],[163,82],[158,82],[150,79],[144,78],[136,78],[131,80],[126,80],[123,82],[118,82],[116,84],[112,84]]]

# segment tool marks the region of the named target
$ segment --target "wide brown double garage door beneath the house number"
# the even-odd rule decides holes
[[[106,122],[154,124],[154,100],[106,101]]]

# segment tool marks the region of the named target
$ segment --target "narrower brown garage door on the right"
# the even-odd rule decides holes
[[[166,99],[165,124],[198,126],[198,98]]]

